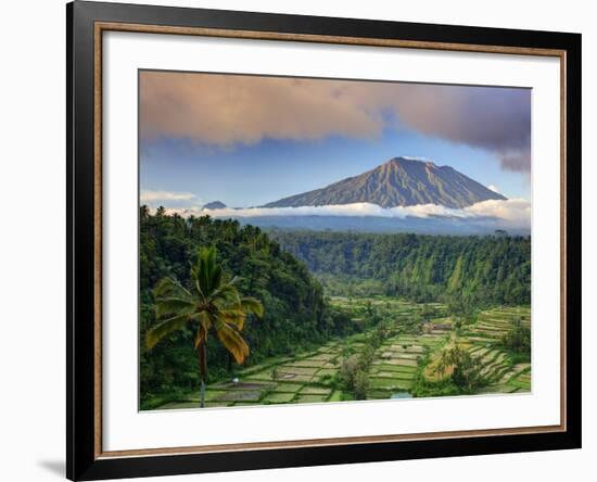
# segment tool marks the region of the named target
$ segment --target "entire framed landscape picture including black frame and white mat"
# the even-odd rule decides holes
[[[581,36],[75,1],[67,477],[581,446]]]

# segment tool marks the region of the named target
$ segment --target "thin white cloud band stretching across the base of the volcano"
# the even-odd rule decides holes
[[[461,219],[496,219],[511,228],[530,228],[531,203],[524,199],[488,200],[463,208],[450,208],[437,204],[419,204],[415,206],[381,207],[370,203],[334,204],[326,206],[300,207],[247,207],[223,210],[168,208],[169,215],[205,216],[215,218],[255,218],[264,216],[348,216],[348,217],[406,217],[434,218],[456,217]]]

